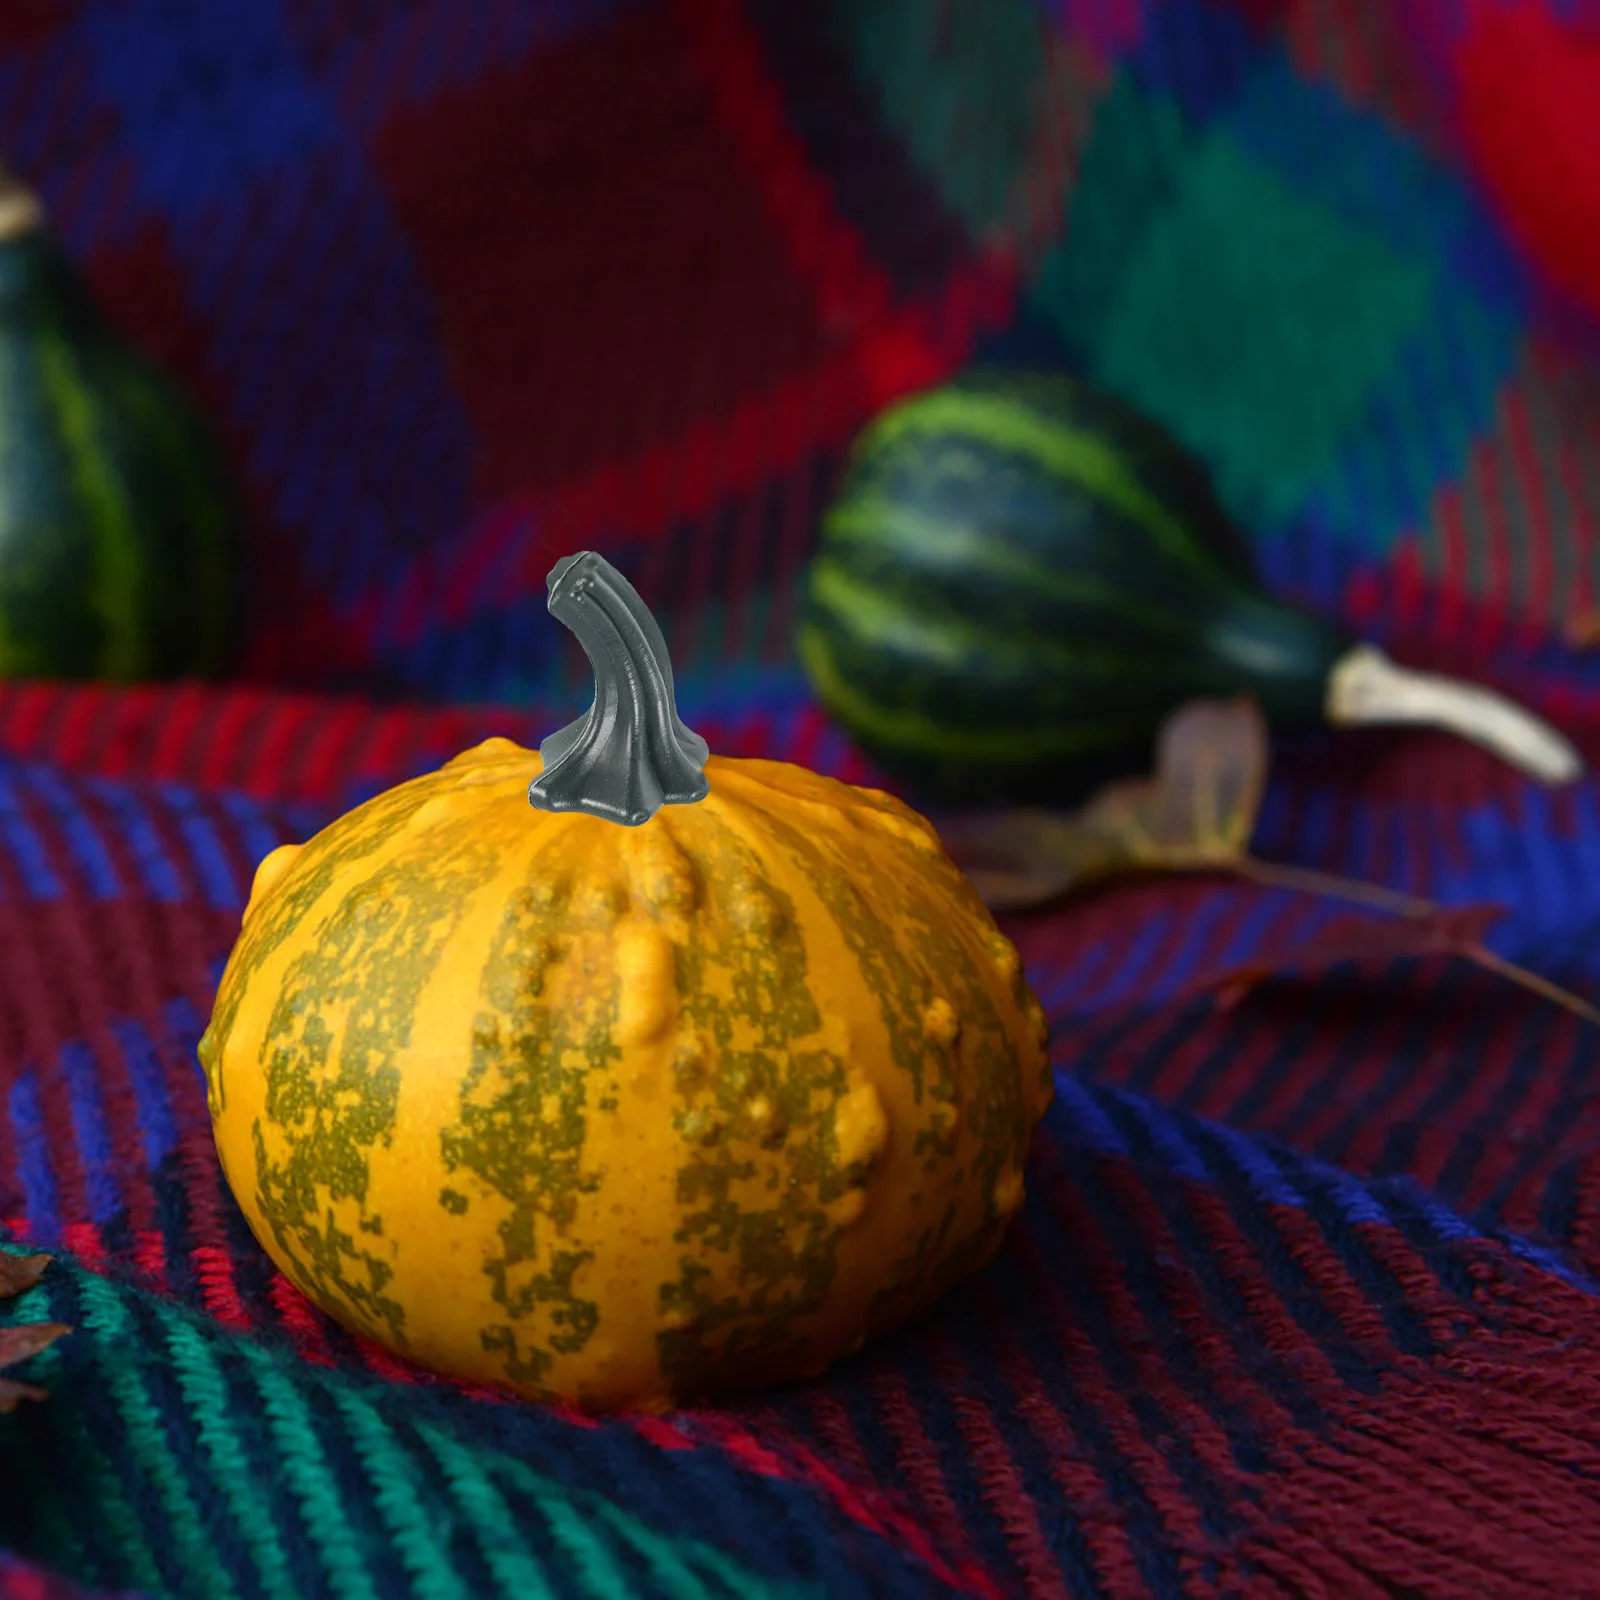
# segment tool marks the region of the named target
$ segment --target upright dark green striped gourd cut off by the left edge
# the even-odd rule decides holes
[[[235,533],[205,426],[0,171],[0,678],[214,672]]]

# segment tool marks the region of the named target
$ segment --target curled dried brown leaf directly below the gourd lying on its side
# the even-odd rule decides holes
[[[1256,704],[1195,701],[1162,726],[1154,778],[1112,784],[1077,813],[979,813],[942,821],[939,834],[990,907],[1022,910],[1128,872],[1237,866],[1266,781]]]

